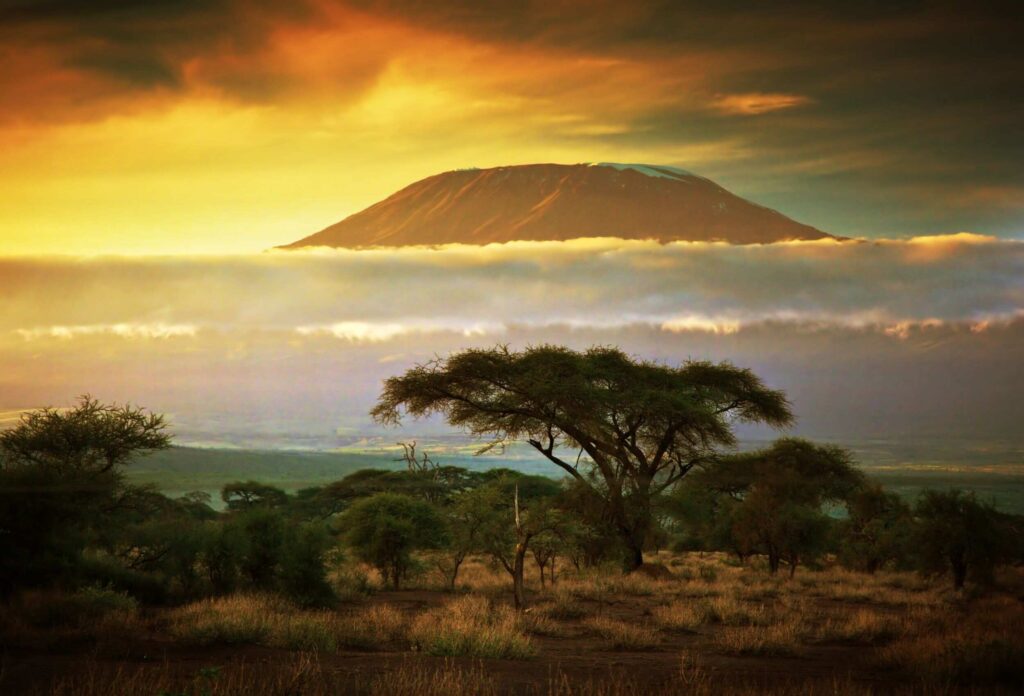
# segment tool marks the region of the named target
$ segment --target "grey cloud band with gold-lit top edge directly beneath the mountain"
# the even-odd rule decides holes
[[[617,240],[229,257],[0,260],[0,332],[291,330],[346,340],[504,327],[735,332],[775,320],[902,333],[1024,308],[1024,243],[971,234],[764,246]]]

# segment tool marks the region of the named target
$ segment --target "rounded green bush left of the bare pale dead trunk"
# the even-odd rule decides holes
[[[414,551],[438,549],[446,530],[429,504],[398,493],[377,493],[355,503],[342,527],[355,555],[376,567],[395,590],[413,568]]]

